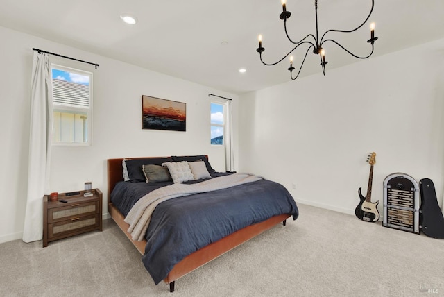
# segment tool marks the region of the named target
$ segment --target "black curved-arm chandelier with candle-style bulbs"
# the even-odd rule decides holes
[[[307,44],[308,49],[305,52],[305,56],[304,59],[302,60],[302,63],[300,65],[299,71],[298,71],[298,75],[296,75],[295,78],[293,78],[293,70],[295,69],[293,67],[293,56],[290,56],[290,67],[289,67],[289,71],[290,71],[290,78],[292,80],[296,80],[296,78],[298,78],[299,74],[300,74],[300,70],[302,69],[302,66],[304,66],[304,62],[305,62],[305,58],[307,58],[307,54],[310,51],[310,49],[313,49],[313,53],[315,55],[319,55],[319,58],[321,59],[321,67],[322,67],[322,71],[323,74],[325,75],[325,65],[327,65],[327,61],[325,61],[325,50],[323,49],[323,44],[325,42],[333,42],[334,44],[338,45],[339,47],[341,47],[341,49],[343,49],[344,51],[346,51],[347,53],[350,53],[350,55],[354,56],[355,58],[359,58],[359,59],[366,59],[370,56],[372,56],[373,54],[373,44],[375,43],[375,41],[377,40],[377,37],[375,37],[375,23],[370,24],[370,39],[367,40],[368,43],[370,43],[372,45],[372,50],[370,52],[370,54],[368,56],[357,56],[354,53],[352,53],[351,51],[349,51],[348,49],[345,49],[344,46],[342,46],[341,44],[339,44],[339,42],[336,42],[335,40],[332,39],[324,39],[325,35],[327,35],[327,33],[329,32],[341,32],[341,33],[352,33],[354,31],[357,31],[359,28],[361,28],[362,26],[364,26],[364,24],[368,21],[368,18],[370,18],[370,15],[373,12],[373,7],[375,6],[375,0],[372,0],[372,8],[370,9],[370,13],[368,14],[368,17],[366,17],[366,19],[364,20],[364,22],[357,26],[357,28],[354,28],[352,30],[334,30],[334,29],[330,29],[325,31],[325,33],[322,35],[321,40],[319,40],[319,35],[318,35],[318,0],[314,0],[314,11],[316,14],[316,37],[313,34],[309,34],[307,36],[305,36],[304,38],[302,38],[302,40],[298,41],[298,42],[293,42],[293,40],[291,40],[291,38],[289,37],[289,34],[287,32],[287,19],[291,16],[291,13],[287,10],[286,8],[286,0],[281,0],[282,3],[282,13],[280,14],[280,19],[282,19],[284,21],[284,30],[285,30],[285,35],[287,35],[288,40],[292,43],[292,44],[296,44],[296,46],[293,47],[293,49],[291,49],[291,51],[289,51],[289,53],[287,53],[287,55],[285,55],[282,59],[278,60],[278,62],[275,63],[271,63],[268,64],[266,62],[264,62],[264,60],[262,60],[262,53],[265,51],[264,47],[262,47],[262,35],[259,35],[258,39],[259,39],[259,47],[256,49],[256,51],[259,53],[259,57],[261,59],[262,64],[267,65],[267,66],[272,66],[272,65],[276,65],[280,62],[282,62],[282,60],[284,60],[284,58],[287,58],[287,56],[289,56],[289,54],[291,54],[293,51],[295,51],[299,46],[301,46],[302,44]]]

